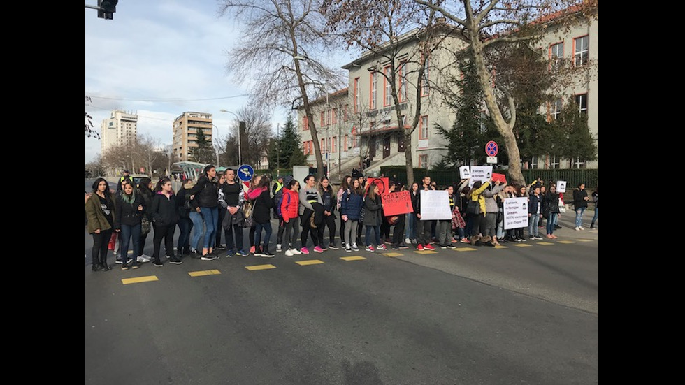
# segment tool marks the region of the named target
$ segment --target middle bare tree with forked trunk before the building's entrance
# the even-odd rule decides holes
[[[426,67],[443,38],[435,11],[404,0],[326,0],[322,9],[329,27],[345,36],[348,46],[377,58],[368,71],[390,85],[391,106],[405,142],[407,180],[413,183],[412,133],[422,115]]]

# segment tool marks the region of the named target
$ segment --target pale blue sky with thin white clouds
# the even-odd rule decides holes
[[[96,0],[86,0],[96,6]],[[183,112],[208,112],[226,136],[237,112],[249,103],[246,85],[226,71],[240,38],[231,16],[219,17],[217,1],[122,0],[113,20],[85,8],[85,103],[94,129],[114,109],[138,115],[138,135],[171,145],[173,120]],[[341,53],[337,66],[349,62]],[[287,110],[270,111],[273,131]],[[85,161],[100,154],[100,140],[85,138]]]

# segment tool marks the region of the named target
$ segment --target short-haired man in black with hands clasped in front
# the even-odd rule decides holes
[[[224,173],[226,174],[226,183],[222,187],[224,202],[219,200],[219,210],[226,211],[222,222],[224,238],[226,238],[226,250],[228,250],[226,256],[229,258],[233,255],[247,256],[243,250],[243,222],[245,221],[243,184],[236,182],[236,170],[226,168]]]

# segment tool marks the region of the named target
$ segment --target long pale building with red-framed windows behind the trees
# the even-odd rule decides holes
[[[411,150],[414,167],[431,168],[438,163],[447,150],[446,139],[440,136],[434,124],[452,127],[455,113],[447,106],[442,95],[431,84],[442,84],[440,73],[459,73],[458,68],[451,68],[447,63],[452,61],[450,51],[465,47],[465,43],[454,36],[447,36],[443,47],[435,50],[426,64],[428,82],[421,87],[421,110],[419,122],[412,132],[411,148],[406,148],[403,130],[410,128],[417,106],[417,66],[419,50],[417,31],[398,37],[401,46],[394,55],[399,64],[398,92],[402,111],[402,124],[398,124],[394,103],[391,99],[390,84],[381,73],[387,73],[391,63],[387,58],[366,52],[361,57],[346,64],[343,68],[349,74],[349,87],[333,92],[327,97],[310,103],[317,136],[321,145],[324,164],[329,164],[329,171],[336,173],[338,164],[342,173],[349,173],[358,168],[367,156],[370,167],[366,174],[380,171],[380,166],[404,165],[405,151]],[[598,21],[584,22],[570,30],[549,29],[545,35],[545,52],[551,55],[574,59],[576,66],[596,62],[598,59]],[[545,47],[543,47],[545,48]],[[413,66],[413,67],[412,67]],[[572,96],[571,96],[572,95]],[[594,78],[585,82],[576,82],[572,89],[567,89],[553,106],[541,106],[540,113],[548,119],[556,118],[563,103],[573,97],[579,101],[581,112],[587,113],[589,127],[598,143],[598,80]],[[486,109],[484,108],[484,111]],[[308,163],[315,166],[314,147],[308,129],[307,117],[303,106],[298,108],[298,130],[303,143],[303,152],[308,155]],[[503,146],[503,143],[500,144]],[[329,158],[326,158],[326,155]],[[533,159],[533,164],[524,164],[524,168],[598,168],[598,161],[583,162],[568,159]],[[337,174],[337,173],[336,173]]]

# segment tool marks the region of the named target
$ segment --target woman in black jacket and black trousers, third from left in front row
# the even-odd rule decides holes
[[[178,207],[176,196],[171,191],[171,180],[168,177],[159,180],[157,186],[154,187],[154,192],[149,213],[154,228],[154,254],[152,254],[154,261],[152,264],[157,267],[163,266],[159,260],[159,247],[162,238],[164,238],[164,247],[169,254],[169,261],[180,265],[183,262],[180,257],[173,253],[173,233],[176,229],[176,222],[178,222]]]

